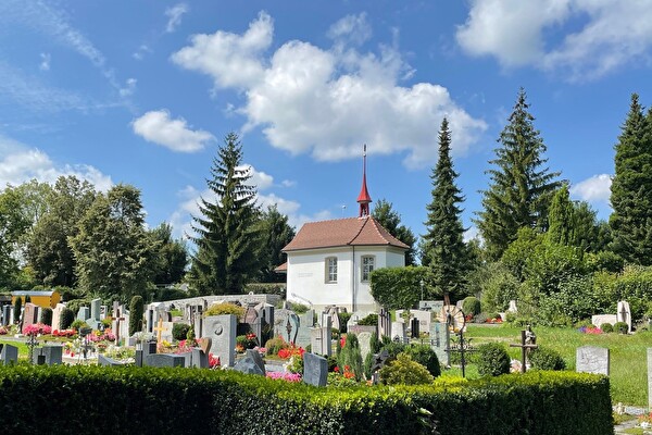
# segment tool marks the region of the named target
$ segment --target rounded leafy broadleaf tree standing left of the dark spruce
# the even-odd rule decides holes
[[[155,269],[159,241],[145,229],[140,190],[118,184],[99,194],[70,244],[79,286],[104,299],[142,295]]]

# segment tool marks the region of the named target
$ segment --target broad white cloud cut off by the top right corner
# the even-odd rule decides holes
[[[593,79],[649,61],[651,15],[645,1],[473,0],[456,39],[468,54],[493,55],[505,67],[531,64]]]

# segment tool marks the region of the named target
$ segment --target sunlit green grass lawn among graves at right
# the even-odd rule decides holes
[[[510,325],[482,326],[469,324],[466,337],[473,345],[487,341],[521,341],[521,327]],[[566,361],[567,370],[575,370],[575,349],[581,346],[598,346],[610,349],[610,383],[612,401],[615,403],[647,407],[648,406],[648,361],[647,348],[652,347],[652,332],[634,335],[622,334],[581,334],[575,328],[535,327],[537,345],[556,350]],[[510,357],[521,359],[521,349],[507,348]],[[451,369],[447,374],[460,374],[459,369]],[[477,370],[472,364],[466,376],[477,377]]]

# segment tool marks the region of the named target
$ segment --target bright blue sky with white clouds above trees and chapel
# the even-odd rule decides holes
[[[259,202],[300,226],[356,214],[367,144],[372,198],[423,234],[446,115],[472,235],[523,86],[550,169],[606,219],[651,55],[648,1],[2,0],[0,185],[133,184],[181,235],[234,130]]]

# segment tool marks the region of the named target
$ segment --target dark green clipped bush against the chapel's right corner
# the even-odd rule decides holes
[[[380,306],[389,310],[413,307],[421,298],[421,281],[427,281],[427,268],[381,268],[371,275],[372,296]],[[435,296],[431,288],[425,288],[425,299]]]

